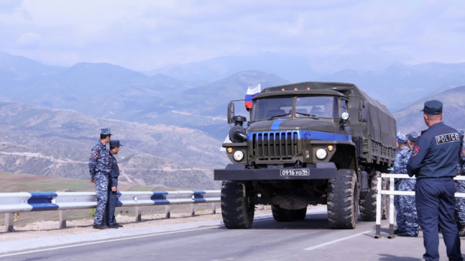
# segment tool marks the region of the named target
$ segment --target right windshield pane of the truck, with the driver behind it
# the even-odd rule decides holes
[[[334,118],[339,114],[337,102],[332,96],[299,96],[296,98],[296,115],[315,115],[318,118]]]

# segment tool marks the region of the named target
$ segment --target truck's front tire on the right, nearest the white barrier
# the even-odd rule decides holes
[[[359,191],[357,175],[351,169],[338,169],[336,178],[329,180],[327,208],[331,228],[355,228],[358,217]]]

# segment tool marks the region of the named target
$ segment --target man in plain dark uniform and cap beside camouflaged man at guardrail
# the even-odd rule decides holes
[[[119,147],[122,146],[118,140],[110,141],[110,165],[112,166],[112,171],[109,176],[108,183],[108,202],[105,209],[105,224],[111,228],[122,227],[122,225],[116,222],[115,218],[115,206],[117,198],[117,188],[118,188],[118,176],[119,176],[119,167],[116,162],[115,155],[119,152]]]

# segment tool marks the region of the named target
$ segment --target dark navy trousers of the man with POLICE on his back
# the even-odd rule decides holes
[[[422,178],[417,180],[416,204],[419,224],[423,230],[426,261],[439,261],[439,232],[450,261],[463,261],[459,231],[454,222],[454,179]]]

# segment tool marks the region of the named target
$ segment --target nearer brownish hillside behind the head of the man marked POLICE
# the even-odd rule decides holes
[[[465,129],[465,86],[456,87],[435,95],[422,98],[407,107],[394,113],[397,120],[397,130],[402,134],[410,131],[425,130],[428,127],[423,120],[424,102],[427,100],[437,99],[443,104],[443,121],[445,124],[454,127]]]

